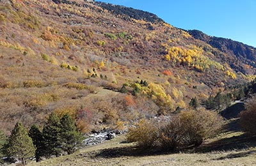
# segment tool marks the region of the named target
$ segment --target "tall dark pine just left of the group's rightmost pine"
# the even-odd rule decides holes
[[[50,158],[51,155],[60,155],[60,130],[60,118],[53,112],[47,119],[42,133],[45,158]]]

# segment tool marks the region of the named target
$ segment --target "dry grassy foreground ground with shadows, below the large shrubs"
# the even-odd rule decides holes
[[[183,153],[138,151],[125,142],[124,135],[97,146],[80,149],[73,155],[60,156],[29,166],[44,165],[256,165],[256,137],[234,131],[208,140],[198,149]]]

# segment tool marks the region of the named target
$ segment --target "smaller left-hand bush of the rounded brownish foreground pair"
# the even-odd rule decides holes
[[[129,128],[126,138],[129,142],[137,142],[142,148],[148,148],[154,146],[158,131],[151,121],[141,120],[136,127]]]

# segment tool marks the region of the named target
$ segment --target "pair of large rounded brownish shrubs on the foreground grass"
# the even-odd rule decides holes
[[[200,146],[205,139],[216,136],[223,126],[223,119],[205,109],[186,110],[167,122],[140,121],[129,128],[127,140],[139,147],[158,146],[163,149]]]

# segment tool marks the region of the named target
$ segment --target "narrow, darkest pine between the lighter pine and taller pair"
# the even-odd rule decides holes
[[[44,156],[44,143],[43,143],[43,135],[42,132],[40,132],[38,126],[36,124],[33,124],[29,130],[28,133],[29,137],[33,140],[33,144],[36,147],[36,162],[40,161],[40,158]]]

